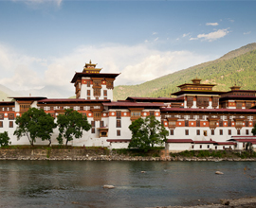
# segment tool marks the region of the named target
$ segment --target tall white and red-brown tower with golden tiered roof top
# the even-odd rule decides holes
[[[119,74],[101,73],[97,63],[85,63],[81,73],[76,73],[71,83],[76,89],[76,98],[113,100],[114,80]]]

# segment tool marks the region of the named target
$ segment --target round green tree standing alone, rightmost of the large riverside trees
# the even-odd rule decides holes
[[[168,135],[168,130],[165,130],[154,115],[138,118],[132,122],[129,129],[132,131],[132,139],[128,147],[145,151],[155,147],[155,145],[162,145]]]

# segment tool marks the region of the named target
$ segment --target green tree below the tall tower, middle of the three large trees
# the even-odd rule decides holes
[[[91,125],[87,121],[86,115],[78,113],[72,109],[65,110],[64,114],[57,116],[57,125],[59,127],[59,135],[57,140],[60,145],[63,144],[65,138],[65,145],[73,140],[73,137],[79,139],[82,137],[82,130],[90,130]]]

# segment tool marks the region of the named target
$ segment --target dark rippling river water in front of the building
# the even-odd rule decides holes
[[[245,167],[249,168],[246,174]],[[224,175],[214,174],[217,170]],[[256,196],[254,176],[255,162],[0,161],[0,207],[218,202]],[[103,189],[104,184],[116,188]]]

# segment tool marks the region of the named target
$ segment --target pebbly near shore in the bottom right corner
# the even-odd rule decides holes
[[[198,201],[199,202],[199,201]],[[219,204],[203,204],[196,206],[157,206],[157,208],[255,208],[256,197],[241,199],[220,199]]]

